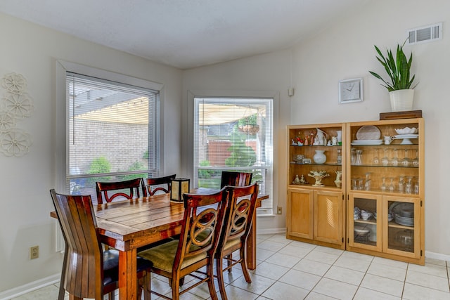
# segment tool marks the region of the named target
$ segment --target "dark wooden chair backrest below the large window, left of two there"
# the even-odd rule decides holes
[[[139,187],[141,186],[141,180],[141,178],[136,178],[129,181],[96,182],[97,203],[102,204],[103,198],[106,202],[111,202],[117,197],[124,197],[126,199],[133,199],[134,197],[139,198]],[[127,193],[127,189],[129,190],[129,193]],[[116,190],[117,193],[108,193],[113,190]]]

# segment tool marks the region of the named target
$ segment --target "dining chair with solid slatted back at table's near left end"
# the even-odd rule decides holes
[[[91,196],[62,195],[53,189],[50,194],[65,240],[58,300],[64,300],[65,291],[74,300],[103,300],[104,294],[114,299],[119,278],[119,252],[102,250]],[[144,299],[150,300],[151,266],[152,262],[146,259],[137,261],[138,299],[143,290]]]

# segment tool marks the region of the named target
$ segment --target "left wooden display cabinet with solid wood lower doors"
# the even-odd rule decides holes
[[[316,138],[321,131],[326,141]],[[345,249],[345,131],[342,123],[288,126],[287,238]],[[315,161],[317,150],[325,162]],[[319,185],[309,175],[321,171]]]

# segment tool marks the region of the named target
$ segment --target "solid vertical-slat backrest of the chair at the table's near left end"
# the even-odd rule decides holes
[[[74,296],[96,298],[103,294],[103,250],[91,196],[50,193],[66,243],[61,284]]]

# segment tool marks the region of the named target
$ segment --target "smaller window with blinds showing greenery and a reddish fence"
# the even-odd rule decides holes
[[[194,98],[194,187],[220,188],[221,171],[252,172],[269,195],[259,214],[272,214],[271,98]]]

